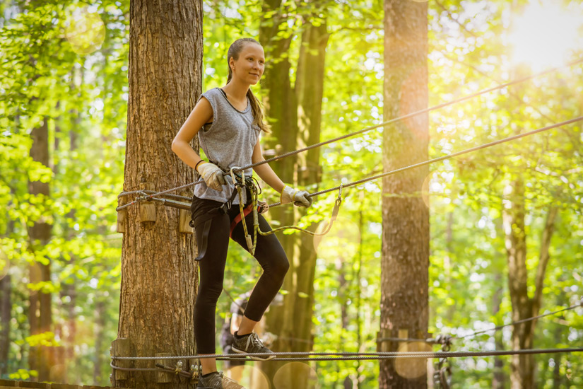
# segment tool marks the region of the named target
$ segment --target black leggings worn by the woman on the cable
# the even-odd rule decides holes
[[[201,250],[204,226],[204,222],[201,223],[200,220],[205,218],[208,209],[219,207],[220,205],[220,202],[213,200],[194,198],[192,216],[196,226],[196,240],[199,243],[199,250]],[[230,224],[237,214],[240,214],[239,204],[233,204],[227,214],[216,214],[211,219],[206,252],[200,260],[199,293],[194,304],[194,338],[196,339],[196,349],[199,354],[215,354],[216,352],[216,306],[218,297],[223,291]],[[253,237],[253,214],[249,214],[245,221],[247,221],[247,231]],[[259,228],[261,228],[261,231],[271,231],[269,223],[261,215],[259,215]],[[232,231],[232,239],[248,251],[242,223],[238,223]],[[255,249],[254,257],[264,272],[259,277],[251,296],[249,296],[245,316],[251,320],[259,321],[281,288],[283,278],[288,272],[290,264],[281,247],[281,243],[279,243],[274,234],[268,236],[259,235],[257,237],[257,248]]]

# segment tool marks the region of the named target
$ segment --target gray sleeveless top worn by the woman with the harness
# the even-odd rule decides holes
[[[201,95],[213,108],[213,122],[204,124],[199,131],[199,142],[209,161],[218,167],[229,170],[233,166],[251,165],[253,148],[259,139],[259,126],[253,124],[251,103],[247,98],[247,108],[240,111],[229,103],[227,95],[220,88],[213,88]],[[245,170],[245,177],[252,174],[252,169]],[[223,192],[207,187],[203,182],[194,187],[194,195],[199,199],[211,199],[227,202],[235,190],[234,185],[223,185]],[[246,202],[243,193],[243,203]],[[239,204],[239,196],[233,204]]]

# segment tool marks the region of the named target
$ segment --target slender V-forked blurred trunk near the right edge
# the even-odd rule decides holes
[[[534,281],[534,296],[530,297],[529,274],[526,268],[526,230],[524,204],[524,180],[519,175],[505,187],[503,200],[503,228],[508,262],[508,286],[512,302],[512,321],[524,320],[538,315],[541,307],[542,289],[549,260],[550,240],[555,228],[558,209],[550,207],[541,238],[541,252]],[[512,349],[531,349],[533,347],[536,320],[514,325],[512,330]],[[512,389],[536,388],[536,363],[532,355],[514,355],[511,358],[510,381]]]

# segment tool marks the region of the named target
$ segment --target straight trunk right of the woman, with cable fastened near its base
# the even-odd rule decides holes
[[[428,5],[384,1],[384,120],[428,106]],[[428,115],[385,127],[384,171],[428,159]],[[383,180],[381,333],[425,337],[428,330],[429,211],[420,195],[428,168]],[[411,344],[423,349],[424,344]],[[383,351],[397,351],[389,343]],[[379,388],[426,388],[425,359],[380,361]]]

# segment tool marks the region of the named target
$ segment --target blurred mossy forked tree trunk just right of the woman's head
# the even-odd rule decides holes
[[[265,1],[263,11],[278,10],[273,18],[261,23],[259,33],[261,45],[272,65],[266,70],[263,87],[266,88],[264,106],[272,124],[273,134],[266,142],[276,154],[292,151],[317,143],[320,137],[322,95],[324,91],[324,57],[328,34],[326,23],[312,23],[323,1],[307,1],[317,11],[305,15],[300,57],[296,71],[295,86],[290,81],[290,62],[288,59],[291,34],[278,36],[281,25],[287,23],[285,6],[281,0]],[[317,25],[314,25],[317,24]],[[285,27],[284,27],[285,29]],[[313,192],[319,182],[319,149],[298,154],[297,158],[284,158],[273,163],[281,179],[290,185],[309,186]],[[273,209],[271,219],[281,225],[293,224],[296,217],[305,211],[283,206]],[[317,226],[312,226],[314,230]],[[279,335],[273,345],[278,352],[307,352],[312,349],[312,306],[314,303],[314,272],[316,252],[311,236],[295,234],[278,235],[285,253],[290,260],[290,272],[285,278],[283,289],[288,291],[282,307],[270,309],[266,318],[268,331]],[[296,340],[294,340],[296,339]],[[298,342],[297,339],[302,341]],[[261,368],[271,379],[283,364],[268,362]],[[309,388],[309,368],[287,371],[288,376],[278,379],[278,388]],[[287,388],[287,386],[285,387]],[[285,389],[282,387],[282,389]]]

